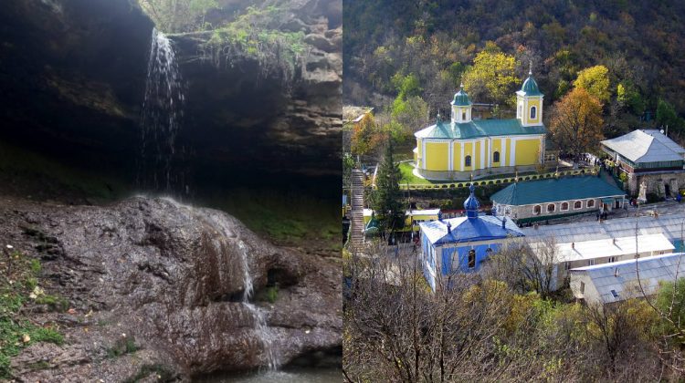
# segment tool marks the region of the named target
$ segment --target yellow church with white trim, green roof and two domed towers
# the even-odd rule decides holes
[[[416,173],[428,180],[469,180],[489,174],[532,171],[544,163],[543,94],[532,72],[516,92],[516,119],[471,119],[463,85],[451,120],[415,133]]]

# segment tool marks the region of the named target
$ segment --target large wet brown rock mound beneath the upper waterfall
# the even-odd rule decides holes
[[[2,198],[0,217],[0,238],[41,259],[43,287],[70,307],[33,308],[67,340],[15,357],[24,381],[189,379],[341,347],[339,265],[266,243],[223,212],[142,197],[104,207]]]

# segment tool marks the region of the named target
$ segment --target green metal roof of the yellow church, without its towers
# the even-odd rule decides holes
[[[426,129],[416,132],[420,139],[468,140],[479,137],[515,136],[522,134],[545,134],[544,125],[524,127],[520,119],[474,119],[464,123],[437,121]]]

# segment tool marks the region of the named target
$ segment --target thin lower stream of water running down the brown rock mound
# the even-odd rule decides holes
[[[232,223],[227,221],[227,218],[218,213],[208,214],[209,221],[222,233],[226,238],[234,238],[236,235],[231,230]],[[266,312],[263,308],[253,305],[249,300],[254,294],[254,285],[252,283],[252,275],[249,267],[248,246],[239,238],[237,238],[237,249],[240,255],[240,265],[242,266],[243,278],[243,299],[241,304],[248,309],[255,323],[255,334],[259,342],[262,344],[262,363],[268,366],[269,369],[276,369],[279,367],[279,358],[275,347],[275,334],[267,324]]]

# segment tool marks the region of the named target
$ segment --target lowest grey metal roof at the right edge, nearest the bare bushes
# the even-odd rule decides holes
[[[569,273],[572,277],[574,274],[586,274],[595,285],[602,302],[606,304],[641,296],[640,285],[645,294],[653,295],[659,291],[660,281],[674,281],[685,276],[684,255],[665,254],[638,260],[596,264],[571,269]]]

